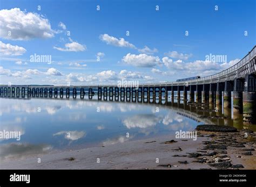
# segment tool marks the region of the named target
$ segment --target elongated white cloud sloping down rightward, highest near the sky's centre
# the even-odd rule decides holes
[[[133,44],[130,44],[128,41],[125,41],[124,38],[115,38],[110,36],[109,34],[100,34],[99,39],[106,42],[106,44],[110,44],[117,47],[130,47],[136,48]]]

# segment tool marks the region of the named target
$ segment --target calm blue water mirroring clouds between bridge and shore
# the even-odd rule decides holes
[[[199,124],[235,124],[232,115],[227,119],[199,118],[224,113],[205,112],[204,108],[183,101],[160,105],[98,101],[97,96],[93,100],[87,97],[0,98],[0,131],[22,134],[20,141],[0,140],[0,159],[174,135],[179,130],[194,130]],[[243,128],[241,124],[239,128]],[[130,138],[126,138],[126,133]]]

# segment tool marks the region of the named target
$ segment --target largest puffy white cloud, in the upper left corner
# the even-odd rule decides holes
[[[0,10],[0,37],[10,40],[52,38],[54,31],[48,19],[19,8]],[[9,34],[11,31],[11,34]]]

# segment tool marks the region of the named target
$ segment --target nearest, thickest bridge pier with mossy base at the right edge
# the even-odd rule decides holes
[[[256,124],[256,76],[245,76],[245,91],[242,92],[243,118],[245,124]]]

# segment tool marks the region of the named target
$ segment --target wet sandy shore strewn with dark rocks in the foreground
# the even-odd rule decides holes
[[[244,139],[243,134],[244,132],[198,132],[196,141],[175,139],[170,135],[126,141],[105,147],[3,161],[0,163],[0,169],[256,169],[255,151],[251,151],[252,155],[244,155],[247,151],[243,150],[256,148],[253,140],[256,134],[250,133],[251,138],[248,141]],[[177,142],[165,143],[170,140]],[[227,140],[231,141],[227,143]],[[225,143],[226,149],[223,148]],[[207,149],[206,146],[209,145],[217,147]],[[41,163],[37,162],[38,157]],[[224,164],[224,167],[219,167],[218,164],[210,166],[220,162],[230,163]]]

